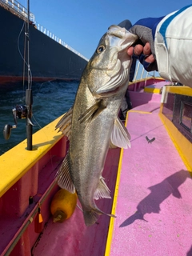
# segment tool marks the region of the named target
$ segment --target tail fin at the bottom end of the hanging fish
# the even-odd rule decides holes
[[[92,210],[83,210],[83,216],[86,223],[86,226],[94,225],[97,222],[99,215],[106,214],[99,209],[92,209]],[[116,218],[114,214],[106,214],[109,217]]]

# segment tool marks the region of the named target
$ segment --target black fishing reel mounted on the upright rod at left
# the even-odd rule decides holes
[[[11,126],[10,124],[6,124],[6,126],[4,126],[4,129],[3,129],[3,136],[6,140],[10,138],[11,130],[17,128],[18,126],[17,119],[27,118],[27,111],[28,110],[26,105],[16,105],[14,107],[14,109],[12,110],[13,116],[14,116],[14,125]],[[29,118],[27,119],[28,119],[28,122],[30,122],[30,124],[34,126],[31,120]]]

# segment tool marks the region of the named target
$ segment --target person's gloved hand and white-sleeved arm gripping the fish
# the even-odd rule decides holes
[[[145,18],[130,28],[140,42],[127,54],[146,70],[158,70],[162,78],[192,87],[192,5],[162,18]]]

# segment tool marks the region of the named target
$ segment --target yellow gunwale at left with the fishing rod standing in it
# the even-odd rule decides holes
[[[0,197],[63,138],[54,130],[60,118],[33,134],[33,150],[26,150],[24,140],[0,156]]]

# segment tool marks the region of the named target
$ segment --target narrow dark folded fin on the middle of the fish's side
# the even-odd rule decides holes
[[[100,100],[96,102],[93,106],[91,106],[88,110],[86,110],[78,120],[82,122],[90,122],[94,118],[98,116],[102,112],[102,110],[105,110],[106,106],[103,105],[103,101]]]

